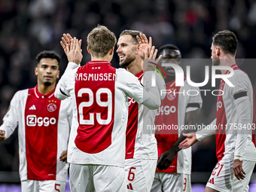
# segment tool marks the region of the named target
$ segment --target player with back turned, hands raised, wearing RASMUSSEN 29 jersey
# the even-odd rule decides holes
[[[69,41],[71,47],[72,41],[76,41],[78,53],[81,53],[81,44],[78,46],[78,41],[72,40],[70,35],[62,38],[64,50]],[[87,50],[92,61],[66,72],[56,87],[58,98],[73,98],[76,111],[68,154],[71,189],[75,191],[126,191],[123,167],[127,97],[133,97],[152,110],[160,106],[159,91],[151,86],[151,72],[145,72],[144,87],[130,72],[111,67],[115,43],[113,32],[105,26],[97,26],[87,35]],[[65,52],[71,62],[69,51]],[[149,58],[156,54],[154,48],[150,49]]]

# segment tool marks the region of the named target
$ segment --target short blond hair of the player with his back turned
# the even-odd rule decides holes
[[[117,43],[114,32],[111,32],[105,26],[96,26],[87,35],[87,44],[93,56],[105,56],[109,50]]]

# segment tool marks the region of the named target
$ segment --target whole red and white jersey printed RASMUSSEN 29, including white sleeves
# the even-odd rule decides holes
[[[152,109],[160,106],[157,88],[145,87],[149,90],[130,72],[115,69],[105,61],[87,62],[66,72],[55,95],[72,98],[68,162],[123,167],[128,96]]]

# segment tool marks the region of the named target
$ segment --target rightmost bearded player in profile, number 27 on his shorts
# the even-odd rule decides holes
[[[214,35],[212,65],[226,66],[221,69],[222,75],[233,73],[228,78],[233,87],[221,79],[219,90],[223,94],[218,95],[216,119],[212,122],[217,129],[184,134],[187,139],[180,145],[180,148],[187,148],[215,134],[218,163],[206,184],[206,192],[248,191],[255,165],[255,138],[252,133],[255,128],[254,92],[248,75],[236,65],[236,46],[233,32],[225,30]]]

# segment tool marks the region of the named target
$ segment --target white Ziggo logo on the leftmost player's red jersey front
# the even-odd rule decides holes
[[[27,126],[49,126],[50,124],[54,125],[56,119],[54,117],[36,117],[35,114],[30,114],[26,116],[26,125]]]

